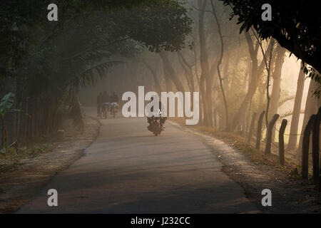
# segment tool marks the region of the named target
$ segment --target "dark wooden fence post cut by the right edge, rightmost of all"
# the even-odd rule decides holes
[[[320,120],[321,107],[317,112],[315,124],[312,129],[312,164],[313,164],[313,182],[317,185],[320,182]]]

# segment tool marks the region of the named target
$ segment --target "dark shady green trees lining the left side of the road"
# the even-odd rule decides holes
[[[1,2],[1,95],[15,93],[15,108],[29,113],[3,117],[10,142],[55,133],[63,114],[78,110],[79,88],[106,77],[121,57],[183,48],[191,29],[180,1],[57,0],[56,22],[46,19],[50,3]]]

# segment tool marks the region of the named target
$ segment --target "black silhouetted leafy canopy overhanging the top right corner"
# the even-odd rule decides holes
[[[321,72],[321,16],[317,1],[220,1],[232,8],[231,17],[238,16],[238,24],[242,24],[240,32],[253,27],[260,38],[272,36],[282,47]],[[272,6],[272,21],[261,19],[263,4]]]

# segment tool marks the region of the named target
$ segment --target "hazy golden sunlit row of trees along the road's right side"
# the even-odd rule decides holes
[[[263,22],[260,24],[252,22],[252,26],[249,26],[250,22],[243,14],[249,18],[248,14],[260,16],[262,11],[254,7],[259,4],[254,4],[255,12],[243,12],[240,9],[246,8],[243,7],[246,4],[238,3],[239,1],[235,4],[233,1],[225,1],[224,4],[229,4],[230,8],[230,6],[224,6],[221,1],[187,1],[185,8],[190,8],[188,17],[193,20],[192,32],[187,37],[187,41],[193,43],[193,46],[172,50],[174,52],[142,51],[135,58],[127,58],[125,60],[127,67],[118,68],[116,73],[118,78],[115,78],[115,74],[112,73],[107,83],[121,84],[118,88],[123,91],[135,90],[141,85],[150,86],[156,91],[200,91],[200,122],[220,130],[238,131],[244,136],[250,130],[253,113],[265,111],[263,117],[265,126],[278,113],[279,121],[284,118],[291,120],[287,149],[294,150],[297,142],[302,141],[299,130],[304,130],[310,115],[316,113],[320,106],[320,99],[315,95],[320,88],[318,80],[310,82],[307,100],[306,102],[302,100],[307,76],[314,76],[313,79],[317,79],[315,74],[317,71],[310,70],[312,68],[309,68],[307,63],[315,68],[317,65],[312,65],[313,63],[307,58],[302,58],[302,62],[299,61],[298,64],[301,66],[298,68],[302,70],[298,71],[296,92],[295,95],[289,94],[291,88],[282,88],[281,81],[285,74],[282,73],[282,67],[289,59],[291,52],[299,58],[301,56],[291,48],[287,48],[284,41],[279,41],[279,37],[274,33],[267,36],[266,31],[261,29],[264,27]],[[247,4],[250,3],[247,2]],[[272,5],[276,4],[272,3]],[[280,9],[275,9],[283,8],[280,6]],[[230,20],[231,14],[240,16],[240,19]],[[296,19],[297,14],[303,13],[291,14],[290,17],[293,16]],[[301,19],[301,16],[298,16],[298,19]],[[283,16],[280,20],[277,22],[280,26],[282,25],[280,29],[287,27],[287,24],[282,21]],[[272,25],[268,23],[267,28],[270,28],[269,26]],[[240,30],[242,33],[239,33]],[[290,34],[290,31],[287,33]],[[313,32],[311,31],[307,36],[316,37]],[[297,34],[292,33],[292,36]],[[294,41],[290,39],[289,42]],[[300,42],[305,41],[299,39],[295,42],[292,44],[300,46]],[[132,80],[128,78],[128,72],[131,72]],[[121,78],[127,78],[129,84],[125,86],[124,83],[120,83]],[[280,113],[280,106],[288,101],[294,101],[293,110],[289,113]],[[302,103],[306,103],[305,110],[301,108]],[[302,128],[299,125],[301,114],[304,114]],[[276,130],[273,128],[272,139],[275,138],[275,133]],[[301,136],[298,137],[299,135]]]

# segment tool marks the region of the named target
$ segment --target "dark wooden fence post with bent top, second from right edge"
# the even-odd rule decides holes
[[[307,180],[309,175],[309,147],[310,147],[310,135],[315,123],[317,115],[311,115],[310,120],[307,122],[305,131],[302,138],[302,179]]]

